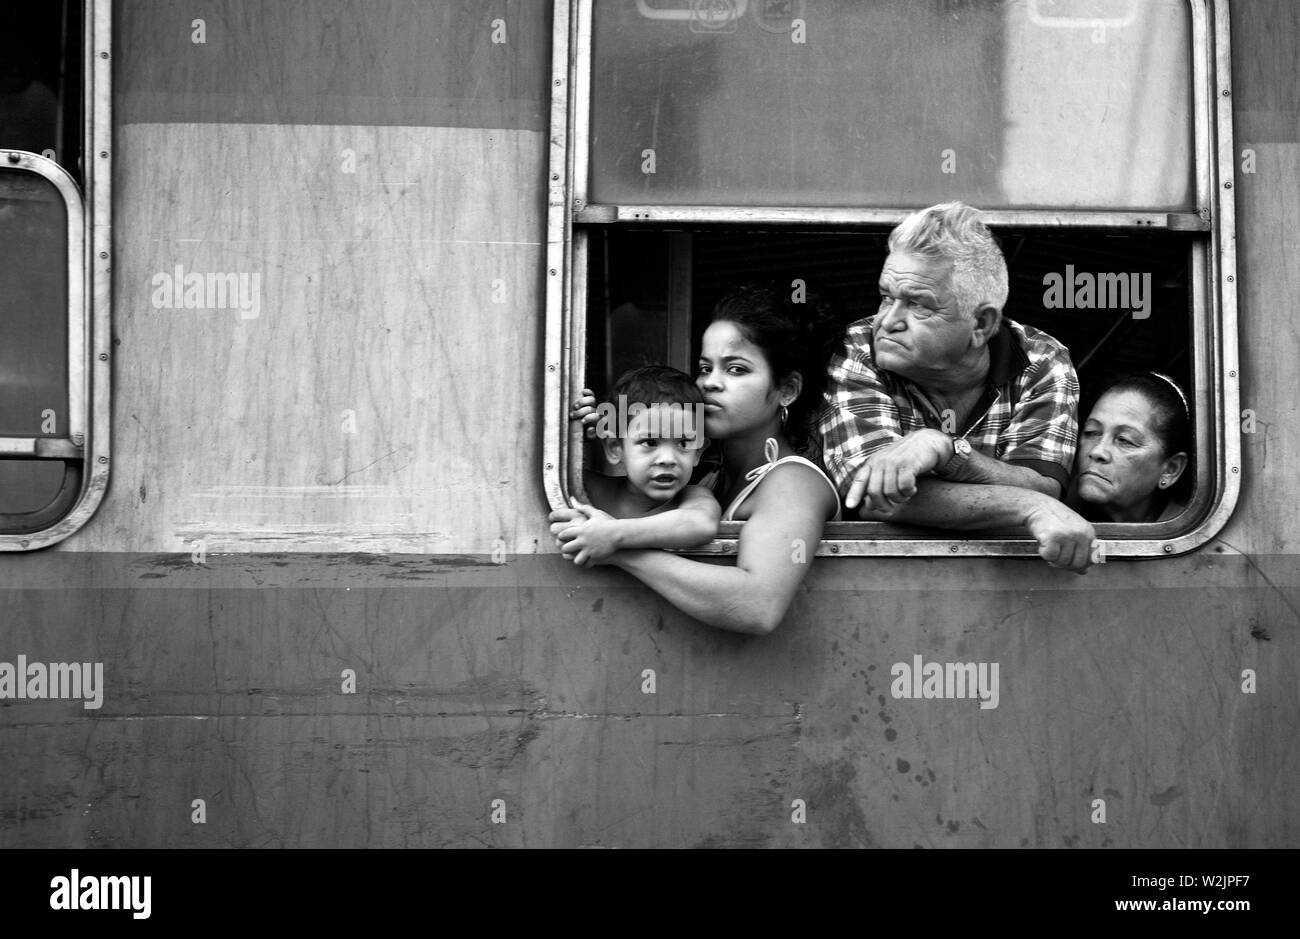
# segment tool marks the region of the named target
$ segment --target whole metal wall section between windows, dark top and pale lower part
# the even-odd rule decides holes
[[[65,550],[534,550],[545,4],[122,3],[114,454]]]

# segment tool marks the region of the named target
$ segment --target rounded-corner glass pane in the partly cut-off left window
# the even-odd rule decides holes
[[[0,168],[0,437],[68,436],[68,211]]]

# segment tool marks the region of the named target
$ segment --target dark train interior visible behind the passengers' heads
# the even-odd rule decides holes
[[[1001,230],[1010,294],[1004,315],[1050,333],[1070,350],[1087,411],[1109,377],[1154,369],[1183,388],[1192,381],[1191,237]],[[588,369],[593,390],[629,368],[671,362],[699,349],[714,304],[741,284],[802,282],[826,297],[848,325],[876,312],[878,273],[888,230],[875,233],[611,230],[593,238],[588,281]],[[1093,276],[1140,267],[1152,276],[1150,308],[1045,308],[1044,277],[1072,268]],[[1144,298],[1145,299],[1145,298]],[[1089,398],[1089,389],[1092,397]]]

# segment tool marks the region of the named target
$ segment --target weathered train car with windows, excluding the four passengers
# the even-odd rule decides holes
[[[0,64],[0,847],[1300,844],[1294,4],[39,10]],[[1190,390],[1182,515],[1083,576],[846,516],[766,636],[560,554],[581,389],[690,371],[740,282],[864,315],[953,199],[1086,397]],[[930,663],[996,697],[900,692]]]

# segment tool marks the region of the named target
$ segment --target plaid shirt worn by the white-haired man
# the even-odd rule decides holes
[[[913,430],[942,429],[942,416],[911,381],[875,365],[874,316],[849,326],[831,358],[822,408],[822,462],[840,494],[866,458]],[[1034,326],[1002,319],[989,342],[984,395],[959,428],[975,450],[1030,467],[1065,492],[1078,445],[1079,380],[1070,352]]]

